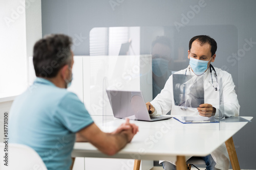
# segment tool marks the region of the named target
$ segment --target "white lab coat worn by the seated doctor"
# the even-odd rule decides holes
[[[187,70],[187,71],[186,71]],[[240,105],[238,103],[237,94],[234,90],[234,83],[231,75],[221,70],[220,68],[216,68],[216,74],[218,83],[220,84],[220,79],[222,79],[222,98],[221,98],[221,107],[225,107],[225,116],[238,116]],[[175,72],[175,74],[183,74],[185,75],[196,76],[194,72],[190,69],[190,66],[186,69]],[[216,78],[214,76],[214,70],[212,70],[212,81],[215,87],[218,87]],[[219,88],[218,88],[219,89]],[[155,112],[153,115],[158,114],[166,114],[169,110],[171,110],[171,114],[173,115],[199,115],[197,108],[187,108],[186,110],[182,110],[180,106],[176,106],[173,95],[173,76],[170,76],[166,81],[164,88],[161,93],[156,96],[156,98],[151,102],[151,104],[155,107]],[[216,91],[212,86],[211,76],[209,69],[204,73],[204,103],[211,104],[216,108],[215,117],[219,116],[219,101],[220,101],[220,92]],[[212,158],[216,162],[216,168],[218,169],[228,169],[229,168],[229,156],[227,153],[226,145],[223,143],[218,149],[211,153]],[[188,160],[190,157],[186,157]],[[176,157],[172,160],[168,160],[169,162],[175,164]],[[160,160],[159,163],[162,161]]]

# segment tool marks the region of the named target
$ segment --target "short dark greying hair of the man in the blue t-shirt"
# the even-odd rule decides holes
[[[72,38],[63,34],[51,34],[38,40],[33,49],[36,77],[53,78],[66,64],[71,66]]]

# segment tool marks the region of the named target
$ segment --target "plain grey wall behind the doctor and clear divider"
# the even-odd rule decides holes
[[[111,6],[111,2],[116,6]],[[200,9],[196,8],[194,12],[195,6]],[[174,58],[182,55],[184,59],[187,57],[188,41],[191,37],[199,34],[210,35],[218,43],[214,66],[230,72],[237,86],[236,91],[241,105],[240,115],[254,116],[255,7],[256,1],[253,0],[44,0],[42,1],[42,35],[68,34],[76,41],[73,47],[74,54],[89,55],[89,37],[92,28],[143,27],[142,36],[151,30],[147,28],[163,27],[167,30],[166,34],[168,30],[172,30],[171,37],[174,43],[172,55]],[[184,15],[188,15],[186,19]],[[182,26],[177,28],[175,25]],[[248,44],[248,41],[252,43]],[[145,39],[141,42],[147,43]],[[150,51],[145,50],[143,44],[141,44],[141,54],[149,54]],[[150,42],[148,44],[150,45]],[[188,63],[188,60],[186,62]],[[233,136],[240,166],[243,169],[256,169],[255,131],[256,124],[252,120]]]

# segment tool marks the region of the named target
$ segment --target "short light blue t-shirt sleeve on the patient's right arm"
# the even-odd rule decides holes
[[[77,95],[68,92],[59,102],[56,119],[68,130],[75,133],[93,123],[93,119]]]

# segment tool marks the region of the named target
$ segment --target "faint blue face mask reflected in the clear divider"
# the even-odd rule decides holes
[[[162,58],[152,59],[152,71],[157,77],[162,77],[168,70],[168,60]]]

